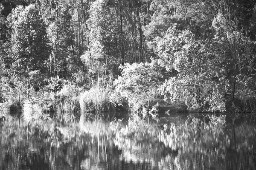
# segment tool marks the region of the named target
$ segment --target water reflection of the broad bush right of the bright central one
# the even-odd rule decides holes
[[[204,119],[189,115],[183,123],[172,122],[170,125],[164,125],[160,139],[172,148],[185,147],[178,141],[187,141],[189,144],[198,140],[199,143],[205,143],[210,139],[219,139],[224,134],[225,119],[226,116],[223,115],[207,115]]]

